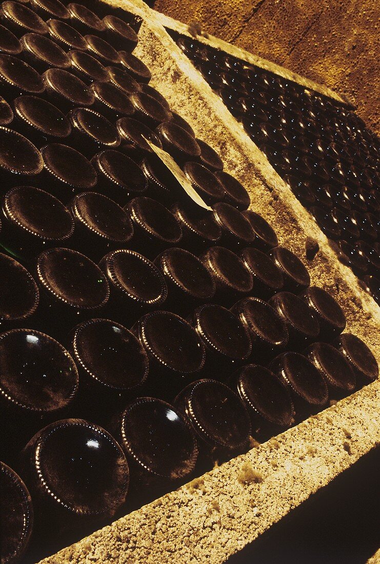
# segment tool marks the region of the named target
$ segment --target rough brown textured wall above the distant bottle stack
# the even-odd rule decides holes
[[[154,9],[337,91],[379,135],[379,0],[156,0]]]

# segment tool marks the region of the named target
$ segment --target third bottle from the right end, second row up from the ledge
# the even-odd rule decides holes
[[[243,298],[231,311],[241,320],[252,343],[252,358],[267,362],[285,349],[289,334],[285,321],[273,307],[259,298]]]

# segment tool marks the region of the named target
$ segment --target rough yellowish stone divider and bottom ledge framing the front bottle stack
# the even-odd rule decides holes
[[[118,2],[122,4],[146,20],[135,53],[151,68],[152,85],[197,136],[219,152],[225,170],[249,190],[251,208],[268,219],[281,244],[303,259],[312,284],[338,299],[347,331],[363,338],[380,360],[379,307],[337,261],[310,215],[171,41],[154,12],[138,2],[134,7]],[[320,250],[308,262],[310,238]],[[377,381],[43,562],[223,562],[380,442],[379,396]]]

